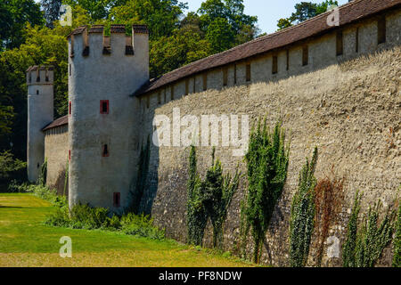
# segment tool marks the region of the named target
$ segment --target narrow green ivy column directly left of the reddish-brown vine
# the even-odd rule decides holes
[[[317,148],[311,162],[309,163],[307,159],[307,163],[299,172],[299,188],[292,199],[290,221],[290,265],[292,267],[307,265],[315,225],[316,160]]]

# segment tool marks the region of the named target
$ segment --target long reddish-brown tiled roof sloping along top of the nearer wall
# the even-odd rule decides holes
[[[400,6],[401,0],[356,0],[340,6],[340,26],[361,20],[376,13]],[[214,69],[235,61],[241,61],[258,54],[267,53],[277,48],[314,37],[333,28],[327,24],[331,12],[324,12],[310,20],[301,22],[291,28],[285,28],[265,37],[258,37],[243,45],[238,45],[223,53],[217,53],[200,61],[192,62],[184,67],[168,72],[143,85],[134,95],[141,95],[156,90],[164,85],[190,77],[208,69]]]

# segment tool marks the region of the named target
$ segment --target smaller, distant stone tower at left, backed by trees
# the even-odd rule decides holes
[[[28,179],[36,182],[45,160],[42,129],[53,121],[53,67],[33,66],[27,70],[28,85]]]

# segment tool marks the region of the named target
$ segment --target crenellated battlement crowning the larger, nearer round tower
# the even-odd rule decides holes
[[[93,25],[91,28],[81,26],[74,29],[68,38],[71,58],[77,54],[90,57],[91,53],[96,55],[118,53],[132,56],[135,55],[135,50],[143,48],[143,43],[148,45],[149,30],[145,25],[133,25],[132,36],[127,36],[126,25],[111,25],[108,37],[104,35],[103,25]]]

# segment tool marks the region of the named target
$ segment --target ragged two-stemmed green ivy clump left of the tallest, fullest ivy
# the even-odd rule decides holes
[[[215,160],[215,148],[212,151],[212,166],[203,181],[197,173],[195,147],[190,151],[190,169],[187,183],[188,191],[188,242],[201,245],[206,224],[210,218],[213,226],[213,247],[223,248],[223,225],[228,208],[240,182],[238,167],[235,175],[223,175],[219,159]]]

